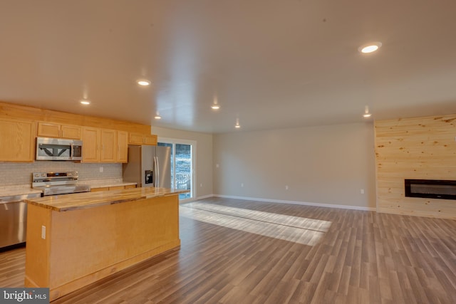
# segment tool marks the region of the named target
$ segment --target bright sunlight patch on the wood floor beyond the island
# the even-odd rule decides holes
[[[309,246],[316,245],[331,226],[331,221],[199,202],[181,205],[180,216]]]

